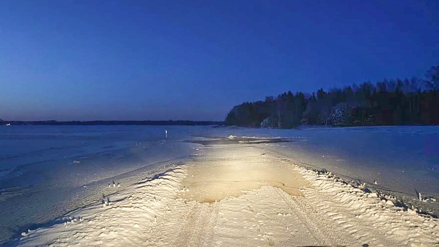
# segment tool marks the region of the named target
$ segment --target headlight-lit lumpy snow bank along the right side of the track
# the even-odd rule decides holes
[[[406,208],[396,198],[367,192],[330,173],[296,169],[315,188],[303,188],[305,200],[336,222],[359,242],[394,246],[434,246],[439,242],[439,220]],[[363,187],[363,189],[362,189]],[[395,206],[395,204],[400,204]],[[367,233],[374,233],[369,235]]]

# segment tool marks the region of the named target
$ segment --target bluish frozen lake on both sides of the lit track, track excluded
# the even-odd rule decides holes
[[[199,144],[185,141],[229,135],[291,138],[262,146],[388,190],[439,196],[439,127],[0,126],[0,239],[99,200],[112,181],[190,158]]]

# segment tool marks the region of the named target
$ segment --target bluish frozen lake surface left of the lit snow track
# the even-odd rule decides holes
[[[112,180],[122,187],[137,182],[160,162],[191,155],[195,146],[181,141],[188,127],[1,127],[0,243],[114,193]]]

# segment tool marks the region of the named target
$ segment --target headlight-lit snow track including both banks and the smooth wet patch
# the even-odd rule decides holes
[[[106,186],[106,185],[103,185]],[[194,158],[22,233],[19,246],[437,246],[439,220],[263,144]]]

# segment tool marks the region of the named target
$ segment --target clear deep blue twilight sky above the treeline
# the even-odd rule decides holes
[[[2,0],[0,118],[223,120],[284,91],[422,77],[435,0]]]

